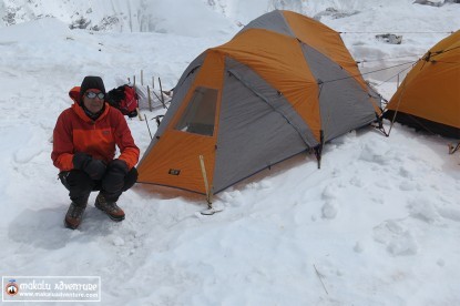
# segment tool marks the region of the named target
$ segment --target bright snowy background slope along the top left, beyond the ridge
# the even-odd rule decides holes
[[[3,7],[3,8],[2,8]],[[193,13],[190,13],[193,11]],[[0,27],[57,18],[80,29],[109,32],[157,32],[217,35],[235,26],[200,0],[1,0]],[[218,23],[219,29],[209,27]]]

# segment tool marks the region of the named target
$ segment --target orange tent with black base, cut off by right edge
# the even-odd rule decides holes
[[[460,139],[460,31],[438,42],[417,62],[384,116]]]

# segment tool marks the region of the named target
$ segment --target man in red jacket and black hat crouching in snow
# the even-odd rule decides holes
[[[137,180],[139,147],[123,114],[104,102],[101,78],[85,76],[80,90],[73,88],[69,95],[75,103],[58,118],[51,153],[72,201],[64,224],[72,230],[80,225],[92,191],[100,191],[95,207],[122,221],[124,212],[116,201]]]

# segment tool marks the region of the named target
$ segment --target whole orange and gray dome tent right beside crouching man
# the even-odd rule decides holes
[[[206,194],[205,175],[217,193],[368,125],[380,114],[372,94],[339,33],[269,12],[184,71],[137,181]]]

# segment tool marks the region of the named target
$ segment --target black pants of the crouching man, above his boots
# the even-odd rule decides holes
[[[111,164],[108,165],[108,170]],[[65,188],[69,190],[70,200],[78,205],[85,205],[93,191],[101,191],[101,194],[108,202],[116,202],[120,195],[131,188],[137,181],[137,170],[135,167],[131,169],[124,176],[124,182],[111,184],[110,186],[106,182],[112,182],[113,177],[104,175],[102,180],[94,181],[81,170],[62,171],[59,173],[59,178]]]

